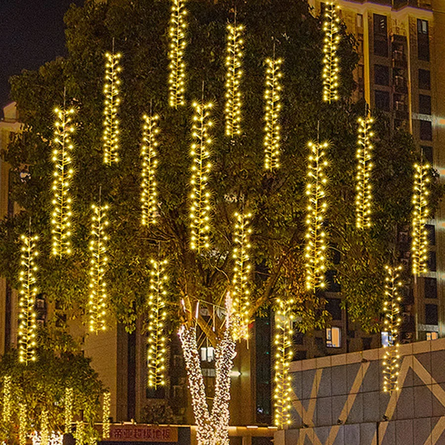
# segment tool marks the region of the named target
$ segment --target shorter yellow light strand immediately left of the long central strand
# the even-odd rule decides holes
[[[156,159],[156,147],[158,142],[156,134],[159,133],[158,120],[159,116],[143,117],[144,126],[142,133],[142,147],[140,155],[142,157],[142,182],[140,200],[142,203],[142,225],[156,224],[157,217],[157,191],[156,191],[156,167],[158,160]]]

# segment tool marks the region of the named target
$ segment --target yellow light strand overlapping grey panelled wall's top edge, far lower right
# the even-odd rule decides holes
[[[398,289],[402,285],[399,280],[402,268],[401,266],[385,266],[385,269],[385,302],[383,304],[383,312],[385,314],[384,329],[388,333],[388,346],[383,346],[385,349],[383,359],[383,391],[392,393],[393,391],[399,391],[401,297]]]

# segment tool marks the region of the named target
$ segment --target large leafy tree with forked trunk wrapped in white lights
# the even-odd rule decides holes
[[[223,307],[231,289],[233,275],[233,215],[252,212],[252,301],[248,313],[255,313],[273,301],[276,295],[298,291],[296,312],[301,326],[310,330],[326,318],[322,296],[305,293],[301,286],[304,244],[307,173],[307,142],[316,140],[319,123],[320,140],[328,140],[327,231],[338,248],[345,252],[341,276],[345,280],[345,298],[357,318],[378,318],[383,276],[376,261],[370,284],[356,287],[351,265],[362,257],[354,246],[362,235],[351,227],[355,194],[356,119],[363,104],[352,104],[356,85],[353,69],[357,62],[354,38],[341,27],[339,47],[341,100],[323,104],[321,60],[323,34],[321,20],[312,16],[306,1],[270,0],[187,2],[186,106],[173,109],[168,104],[168,21],[169,5],[155,0],[86,1],[83,7],[72,6],[65,16],[69,56],[45,64],[38,72],[25,71],[11,81],[12,96],[17,101],[25,132],[10,144],[6,159],[19,169],[29,165],[30,178],[16,179],[13,198],[24,209],[13,219],[1,223],[1,272],[15,279],[16,240],[26,227],[29,216],[41,236],[40,282],[49,300],[57,299],[73,316],[85,316],[88,295],[88,242],[90,205],[98,200],[110,204],[109,268],[106,279],[113,312],[134,329],[137,316],[144,313],[149,288],[151,258],[169,261],[170,317],[181,325],[180,338],[189,364],[189,386],[193,399],[200,443],[226,443],[228,424],[229,377],[235,343],[226,329],[227,323],[215,315],[206,321],[196,311],[198,301],[214,313]],[[245,25],[242,92],[242,134],[233,141],[224,135],[225,27],[232,21],[236,7],[237,21]],[[121,73],[122,104],[120,118],[121,162],[105,167],[102,162],[102,78],[103,55],[115,47],[123,53]],[[263,169],[263,128],[265,60],[275,48],[282,57],[283,91],[281,165],[273,174]],[[52,108],[63,102],[77,107],[76,172],[72,183],[75,215],[73,253],[69,258],[50,258],[49,215],[51,212],[49,142],[52,137]],[[190,104],[195,99],[212,101],[211,145],[211,249],[202,254],[190,250],[189,193],[191,159]],[[152,109],[160,115],[157,169],[159,223],[147,229],[140,224],[141,116]],[[375,175],[388,178],[388,171],[399,172],[397,181],[411,182],[412,139],[391,138],[379,132],[379,160]],[[386,147],[394,150],[386,150]],[[398,157],[394,157],[394,153]],[[376,187],[377,215],[369,235],[369,251],[375,258],[391,258],[396,224],[407,221],[410,205],[405,200],[409,187]],[[364,238],[363,238],[364,239]],[[294,268],[295,267],[295,268]],[[286,272],[286,270],[288,272]],[[360,305],[370,302],[369,310]],[[312,311],[305,311],[311,308]],[[319,310],[318,310],[319,308]],[[309,313],[309,317],[303,316]],[[196,314],[198,316],[196,317]],[[321,316],[321,318],[320,318]],[[195,336],[199,325],[216,347],[216,392],[213,410],[206,398]],[[215,330],[213,329],[215,327]]]

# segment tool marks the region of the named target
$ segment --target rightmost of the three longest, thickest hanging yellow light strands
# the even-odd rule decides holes
[[[309,156],[308,184],[306,194],[309,199],[306,224],[306,288],[315,292],[316,288],[323,289],[325,270],[325,237],[323,230],[323,218],[326,212],[326,199],[324,187],[326,177],[324,168],[327,161],[323,160],[327,142],[322,144],[309,142],[311,155]]]

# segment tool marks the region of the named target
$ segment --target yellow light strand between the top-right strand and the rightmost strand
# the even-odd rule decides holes
[[[357,185],[356,185],[356,227],[365,229],[371,227],[371,117],[358,118],[357,147]]]

